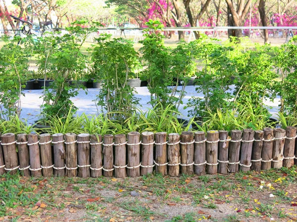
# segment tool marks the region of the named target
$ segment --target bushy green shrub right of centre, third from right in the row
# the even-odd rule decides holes
[[[203,64],[202,70],[197,72],[196,91],[203,94],[203,98],[193,97],[186,108],[191,115],[203,116],[210,109],[222,109],[229,106],[231,93],[228,91],[232,79],[236,76],[234,60],[230,54],[233,48],[222,46],[206,35],[192,42],[193,55],[196,61]]]

